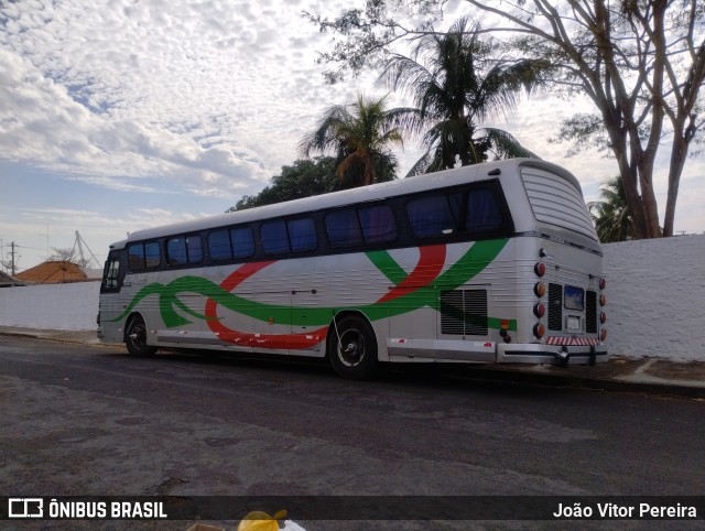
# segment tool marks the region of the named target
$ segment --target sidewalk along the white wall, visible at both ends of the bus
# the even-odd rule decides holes
[[[26,336],[64,343],[98,345],[95,332],[44,330],[0,326],[0,336]],[[705,399],[705,361],[612,356],[595,367],[568,365],[467,366],[459,378],[516,381],[550,387],[575,387],[606,391],[650,392]]]

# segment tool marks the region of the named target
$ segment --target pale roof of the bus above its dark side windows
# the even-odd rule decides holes
[[[246,210],[218,214],[188,221],[137,230],[130,234],[126,240],[117,241],[110,247],[121,249],[131,241],[175,236],[204,229],[246,224],[281,216],[291,216],[306,212],[315,212],[337,206],[373,202],[397,195],[405,195],[477,181],[487,181],[489,178],[500,178],[500,181],[516,180],[517,186],[520,186],[520,166],[538,167],[556,174],[570,182],[571,185],[573,185],[582,195],[581,185],[577,178],[575,178],[575,176],[567,170],[539,159],[509,159],[505,161],[460,166],[415,177],[406,177],[398,181],[360,186],[351,189],[332,192],[328,194],[249,208]]]

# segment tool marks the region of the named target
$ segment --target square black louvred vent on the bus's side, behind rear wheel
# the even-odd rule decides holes
[[[487,291],[441,292],[441,333],[464,336],[487,335]]]

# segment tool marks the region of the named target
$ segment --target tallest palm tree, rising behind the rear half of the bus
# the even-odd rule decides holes
[[[510,133],[478,123],[512,109],[522,90],[541,85],[547,63],[491,59],[492,47],[479,40],[477,28],[460,19],[445,34],[421,39],[413,57],[393,55],[380,79],[410,94],[416,119],[409,129],[422,134],[426,153],[409,172],[417,175],[495,159],[532,156]],[[427,65],[427,66],[426,66]]]

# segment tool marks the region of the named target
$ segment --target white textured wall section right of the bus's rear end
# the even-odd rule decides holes
[[[610,354],[705,360],[705,236],[603,250]]]

